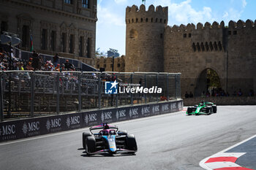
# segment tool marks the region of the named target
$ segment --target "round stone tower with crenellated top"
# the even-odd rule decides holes
[[[167,7],[133,5],[126,9],[125,72],[164,72],[164,32]]]

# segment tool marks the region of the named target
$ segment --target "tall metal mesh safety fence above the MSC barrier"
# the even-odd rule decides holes
[[[152,72],[0,72],[1,121],[16,117],[57,115],[181,98],[181,74]],[[121,89],[162,88],[162,93],[106,94],[105,82]]]

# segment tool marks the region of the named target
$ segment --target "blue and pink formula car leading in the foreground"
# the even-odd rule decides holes
[[[98,133],[93,131],[100,130]],[[119,131],[116,125],[103,123],[83,132],[83,149],[87,155],[102,152],[115,154],[118,152],[135,153],[138,150],[135,136],[127,131]]]

